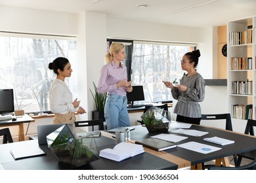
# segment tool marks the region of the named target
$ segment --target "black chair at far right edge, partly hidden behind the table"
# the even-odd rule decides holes
[[[247,120],[244,134],[254,136],[253,127],[256,127],[256,120]],[[237,159],[235,165],[240,166],[242,158],[247,158],[247,159],[251,159],[251,160],[255,159],[256,158],[256,150],[252,150],[249,152],[243,152],[241,154],[236,154],[236,157],[238,157],[238,159]]]

